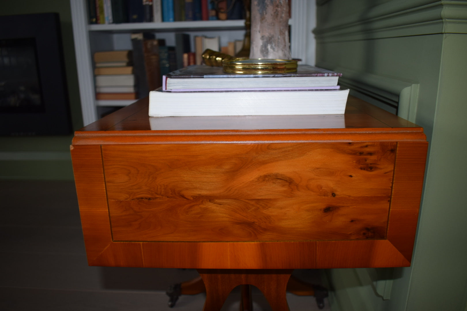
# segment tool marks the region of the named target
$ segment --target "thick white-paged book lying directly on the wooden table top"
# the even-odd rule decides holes
[[[348,89],[149,92],[149,117],[343,114]]]

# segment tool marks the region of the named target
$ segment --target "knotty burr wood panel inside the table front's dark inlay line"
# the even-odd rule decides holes
[[[385,239],[396,146],[103,145],[113,241]]]

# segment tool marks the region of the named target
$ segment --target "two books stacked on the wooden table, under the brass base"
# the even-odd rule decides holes
[[[348,89],[338,72],[298,65],[283,74],[226,74],[192,65],[163,76],[149,93],[150,117],[343,114]]]

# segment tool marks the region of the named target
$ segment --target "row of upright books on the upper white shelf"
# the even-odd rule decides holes
[[[87,5],[91,24],[245,18],[242,0],[88,0]]]

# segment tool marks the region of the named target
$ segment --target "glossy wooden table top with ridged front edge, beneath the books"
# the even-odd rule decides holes
[[[271,135],[281,136],[280,141],[345,141],[342,135],[369,133],[403,134],[404,140],[425,140],[417,124],[352,96],[348,97],[344,115],[149,117],[148,107],[148,98],[143,98],[85,126],[75,132],[73,145],[117,141],[186,143],[187,139],[181,137],[187,136],[197,142],[270,141]]]

